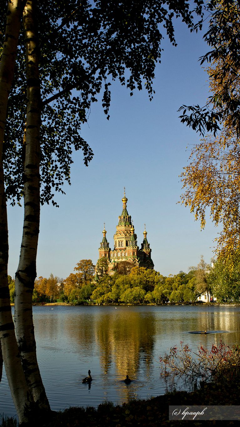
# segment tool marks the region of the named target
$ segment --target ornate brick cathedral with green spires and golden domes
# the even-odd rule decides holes
[[[100,243],[99,251],[99,260],[102,257],[107,258],[108,262],[108,274],[113,275],[116,270],[116,263],[120,261],[128,261],[133,264],[133,266],[146,267],[149,269],[154,268],[154,263],[151,259],[151,249],[147,240],[147,231],[144,227],[143,231],[143,242],[141,244],[141,249],[137,246],[137,237],[133,227],[133,222],[131,216],[127,212],[127,197],[124,196],[121,199],[123,203],[122,213],[119,216],[119,223],[116,226],[116,233],[113,236],[114,248],[110,249],[109,243],[107,241],[107,231],[103,231],[103,240]]]

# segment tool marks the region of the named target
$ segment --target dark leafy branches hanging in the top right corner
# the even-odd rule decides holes
[[[216,136],[227,117],[239,135],[240,3],[238,0],[210,0],[206,9],[210,12],[210,20],[204,40],[210,51],[200,60],[201,64],[213,64],[209,75],[218,84],[211,87],[212,94],[204,107],[182,105],[178,111],[183,112],[181,122],[203,136],[205,132],[213,132]],[[216,64],[220,66],[215,67]]]

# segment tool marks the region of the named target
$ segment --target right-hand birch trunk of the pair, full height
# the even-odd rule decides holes
[[[23,22],[26,41],[27,126],[24,164],[24,226],[15,276],[15,329],[25,376],[39,409],[50,410],[36,357],[32,296],[40,221],[41,93],[34,1],[27,0]]]

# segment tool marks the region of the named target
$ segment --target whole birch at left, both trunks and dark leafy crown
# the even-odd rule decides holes
[[[14,3],[8,2],[9,5]],[[26,409],[31,399],[36,402],[36,407],[49,408],[36,360],[31,306],[36,278],[40,202],[52,201],[56,205],[53,189],[63,192],[64,181],[70,183],[73,148],[83,149],[86,165],[91,160],[93,153],[80,136],[80,126],[86,123],[90,105],[97,101],[101,88],[104,88],[102,105],[107,118],[110,85],[114,79],[127,85],[130,95],[135,88],[141,90],[144,84],[151,100],[154,69],[161,56],[163,35],[160,24],[165,28],[170,42],[176,45],[173,20],[181,18],[191,30],[201,27],[203,2],[195,0],[193,11],[190,11],[188,1],[104,3],[97,0],[92,5],[87,0],[77,4],[74,0],[65,3],[27,0],[20,3],[24,6],[23,31],[18,42],[19,15],[13,34],[14,52],[18,45],[17,56],[13,55],[10,59],[8,55],[12,70],[16,62],[14,86],[10,94],[7,85],[10,82],[11,86],[13,71],[9,82],[2,81],[3,87],[8,87],[6,93],[9,100],[8,120],[1,131],[0,141],[0,274],[3,277],[0,301],[3,360],[5,366],[10,360],[6,371],[9,370],[10,388],[22,423],[27,417],[23,414],[23,408]],[[193,23],[193,14],[199,17],[199,23]],[[5,18],[6,14],[3,13],[2,17]],[[4,66],[3,58],[1,66]],[[0,94],[3,90],[0,87]],[[6,102],[7,99],[3,100],[4,105],[1,105],[0,120],[3,124]],[[15,328],[25,375],[19,368],[18,376],[12,370],[14,366],[15,371],[17,366],[13,363],[13,353],[15,358],[18,357],[15,331],[11,311],[5,310],[5,307],[10,307],[6,289],[6,197],[15,204],[21,202],[22,196],[24,231],[15,280]],[[12,351],[10,358],[8,351]],[[22,380],[19,379],[21,375]],[[21,393],[11,383],[16,382],[17,377],[18,384],[21,383]]]

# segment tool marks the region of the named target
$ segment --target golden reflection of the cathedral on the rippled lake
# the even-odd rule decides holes
[[[101,316],[95,325],[95,338],[100,348],[101,367],[108,374],[111,366],[117,377],[137,378],[139,367],[148,375],[151,370],[155,327],[153,316],[127,313],[128,307],[118,307],[119,313]]]

